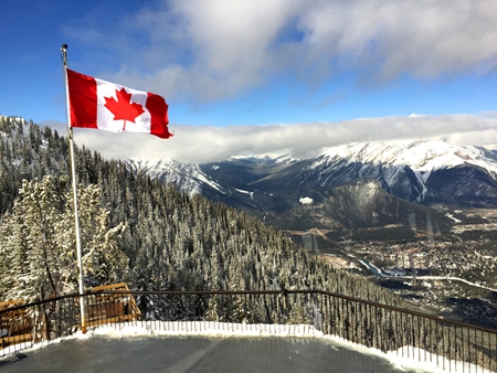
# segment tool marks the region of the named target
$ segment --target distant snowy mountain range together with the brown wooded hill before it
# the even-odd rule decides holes
[[[135,159],[127,164],[283,228],[409,224],[413,211],[426,206],[497,205],[491,148],[444,141],[355,143],[310,159],[234,157],[205,164]]]

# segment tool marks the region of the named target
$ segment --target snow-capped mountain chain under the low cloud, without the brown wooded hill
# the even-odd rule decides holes
[[[303,160],[266,154],[198,166],[144,159],[128,164],[187,193],[261,211],[267,202],[260,199],[263,194],[276,200],[290,190],[364,179],[378,181],[388,193],[410,202],[497,205],[497,156],[484,147],[444,141],[353,143]]]

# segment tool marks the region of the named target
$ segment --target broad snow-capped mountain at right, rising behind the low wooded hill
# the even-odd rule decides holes
[[[495,204],[497,157],[483,147],[444,141],[369,142],[327,149],[303,161],[285,186],[329,186],[374,179],[417,203]]]

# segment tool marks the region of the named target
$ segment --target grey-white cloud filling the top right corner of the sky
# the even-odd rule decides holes
[[[437,77],[497,57],[496,1],[321,1],[300,17],[313,60],[374,79]]]

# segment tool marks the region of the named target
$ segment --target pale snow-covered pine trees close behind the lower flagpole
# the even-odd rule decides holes
[[[81,237],[86,286],[126,280],[127,257],[118,249],[124,225],[108,225],[99,189],[80,188]],[[76,249],[67,180],[24,181],[11,214],[0,222],[0,262],[11,266],[0,299],[36,299],[75,292]]]

